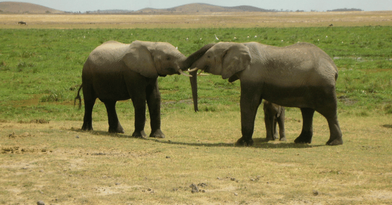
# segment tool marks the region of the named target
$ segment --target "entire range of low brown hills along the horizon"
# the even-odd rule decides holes
[[[262,9],[254,6],[217,6],[206,3],[190,3],[181,6],[176,6],[167,9],[155,9],[155,8],[144,8],[137,11],[131,10],[98,10],[98,11],[87,11],[86,13],[102,13],[102,14],[123,14],[123,13],[209,13],[209,12],[278,12],[283,10],[276,9]],[[285,10],[289,11],[289,10]],[[297,10],[301,11],[301,10]],[[362,9],[334,9],[331,11],[362,11]],[[0,13],[71,13],[66,11],[60,11],[52,9],[46,6],[41,6],[33,3],[15,2],[15,1],[3,1],[0,2]],[[79,12],[80,13],[80,12]]]

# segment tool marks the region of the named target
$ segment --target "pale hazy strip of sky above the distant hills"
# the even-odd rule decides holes
[[[139,10],[172,8],[188,3],[208,3],[219,6],[249,5],[264,9],[326,11],[338,8],[358,8],[365,11],[392,10],[392,0],[15,0],[49,8],[85,12],[107,9]]]

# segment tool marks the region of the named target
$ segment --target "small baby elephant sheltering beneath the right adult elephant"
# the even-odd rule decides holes
[[[285,107],[264,100],[264,123],[266,124],[266,139],[280,141],[286,140],[285,136]],[[279,137],[276,124],[279,126]]]

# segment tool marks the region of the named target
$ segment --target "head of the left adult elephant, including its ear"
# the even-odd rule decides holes
[[[187,57],[176,47],[166,42],[134,41],[125,50],[123,62],[128,68],[147,78],[172,74],[185,74],[188,69]]]

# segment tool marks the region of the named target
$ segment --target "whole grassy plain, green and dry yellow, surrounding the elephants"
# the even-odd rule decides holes
[[[28,16],[40,15],[0,18]],[[391,18],[379,24],[372,18],[352,21],[353,26],[330,19],[262,26],[249,17],[255,23],[244,27],[212,21],[186,27],[180,18],[177,28],[165,27],[158,18],[147,28],[121,21],[94,22],[92,28],[91,16],[75,18],[83,16],[87,20],[77,21],[84,23],[63,15],[59,19],[70,18],[68,24],[42,19],[35,25],[28,19],[27,25],[0,24],[0,204],[392,204]],[[234,146],[241,137],[240,83],[214,75],[198,78],[198,113],[187,77],[159,77],[166,138],[130,136],[134,111],[129,100],[117,103],[125,134],[107,133],[99,101],[95,130],[83,132],[83,105],[80,110],[73,105],[81,70],[89,53],[109,40],[169,42],[186,56],[220,41],[315,44],[339,68],[343,145],[325,145],[329,130],[320,114],[314,116],[312,143],[294,144],[302,125],[297,108],[286,108],[288,140],[267,142],[259,108],[255,145]]]

